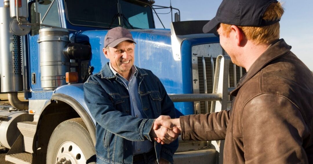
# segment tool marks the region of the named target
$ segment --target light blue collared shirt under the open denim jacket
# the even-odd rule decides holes
[[[121,80],[121,83],[126,87],[128,93],[129,93],[129,100],[131,105],[131,116],[138,117],[138,118],[147,118],[144,117],[144,114],[142,112],[142,106],[141,106],[141,99],[138,91],[138,83],[137,83],[137,77],[134,76],[137,75],[138,70],[133,65],[131,67],[131,77],[129,81],[127,81],[124,77],[122,77],[118,72],[116,72],[111,62],[109,63],[111,71],[114,73],[114,75]],[[120,81],[118,81],[120,82]],[[145,140],[145,141],[133,141],[133,155],[141,154],[141,153],[147,153],[150,152],[151,149],[154,147],[154,143]]]

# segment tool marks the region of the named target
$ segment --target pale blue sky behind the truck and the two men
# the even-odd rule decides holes
[[[0,0],[1,1],[1,0]],[[155,5],[170,6],[170,0],[155,0]],[[222,0],[172,0],[172,7],[181,12],[181,21],[210,20]],[[292,46],[294,52],[313,71],[313,1],[281,0],[285,13],[280,21],[280,38]],[[0,2],[3,7],[3,0]],[[160,9],[157,12],[169,12]],[[176,12],[176,11],[174,11]],[[171,15],[159,14],[166,28],[170,27]],[[163,28],[155,17],[156,27]]]

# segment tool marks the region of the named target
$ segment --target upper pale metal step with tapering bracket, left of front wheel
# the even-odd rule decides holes
[[[33,153],[33,139],[36,133],[37,122],[18,122],[18,129],[23,135],[24,151]]]

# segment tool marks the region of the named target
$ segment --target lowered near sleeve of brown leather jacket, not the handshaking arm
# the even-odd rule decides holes
[[[255,96],[244,106],[241,118],[246,163],[308,163],[302,144],[310,130],[287,97]]]

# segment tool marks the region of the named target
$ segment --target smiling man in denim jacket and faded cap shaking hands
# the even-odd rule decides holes
[[[96,120],[98,164],[173,163],[178,147],[175,129],[151,128],[158,117],[174,118],[175,107],[158,77],[134,65],[135,43],[127,29],[110,29],[103,48],[110,62],[84,84]],[[175,141],[161,145],[153,137]]]

